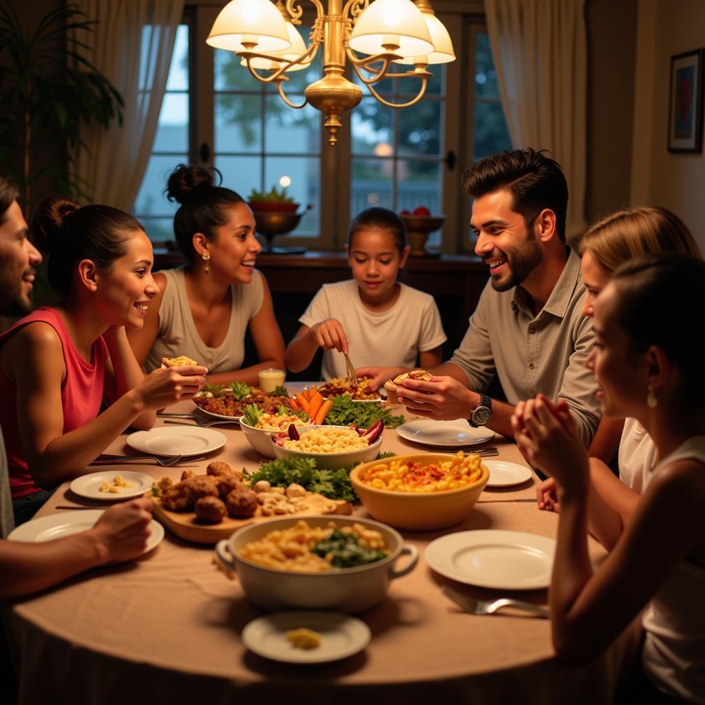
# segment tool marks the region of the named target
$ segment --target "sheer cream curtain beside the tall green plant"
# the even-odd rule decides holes
[[[75,0],[94,32],[79,32],[85,58],[121,92],[123,125],[82,130],[73,157],[94,203],[130,211],[157,133],[183,0]]]

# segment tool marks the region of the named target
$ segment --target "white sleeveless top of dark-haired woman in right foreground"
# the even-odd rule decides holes
[[[658,469],[675,460],[705,466],[705,436],[688,439],[647,472],[644,491]],[[678,563],[651,599],[643,624],[644,672],[661,690],[705,704],[705,568],[687,560]]]

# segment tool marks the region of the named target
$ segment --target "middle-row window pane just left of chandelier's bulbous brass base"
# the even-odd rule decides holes
[[[290,108],[278,95],[266,97],[264,149],[266,152],[318,154],[321,142],[321,113],[307,105]]]

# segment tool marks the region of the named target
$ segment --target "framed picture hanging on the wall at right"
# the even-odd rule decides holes
[[[670,58],[668,151],[703,151],[703,54],[686,51]]]

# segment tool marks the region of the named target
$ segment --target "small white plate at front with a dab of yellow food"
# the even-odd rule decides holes
[[[286,638],[288,630],[317,632],[321,644],[298,649]],[[241,635],[243,644],[259,656],[286,663],[326,663],[362,651],[372,637],[369,627],[355,617],[335,612],[281,612],[252,620]]]

